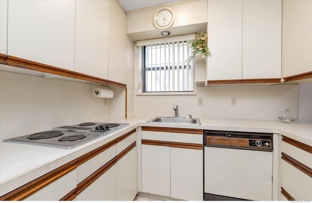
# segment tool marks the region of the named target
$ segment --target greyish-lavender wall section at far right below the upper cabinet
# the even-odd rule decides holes
[[[298,121],[312,123],[312,83],[298,85]]]

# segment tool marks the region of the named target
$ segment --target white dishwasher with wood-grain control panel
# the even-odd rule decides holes
[[[272,200],[273,134],[204,130],[204,200]]]

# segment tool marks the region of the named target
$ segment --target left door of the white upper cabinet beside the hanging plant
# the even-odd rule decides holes
[[[242,79],[242,0],[208,0],[208,80]]]

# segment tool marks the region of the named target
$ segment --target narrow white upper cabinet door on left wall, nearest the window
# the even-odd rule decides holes
[[[126,83],[126,15],[118,3],[110,1],[108,79]]]

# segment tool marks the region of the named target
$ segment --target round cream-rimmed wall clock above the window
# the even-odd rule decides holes
[[[175,13],[168,7],[158,9],[154,15],[154,24],[159,29],[170,27],[174,21]]]

